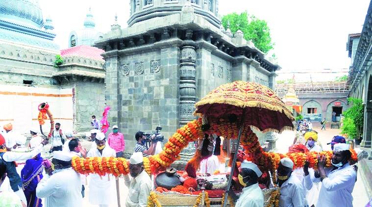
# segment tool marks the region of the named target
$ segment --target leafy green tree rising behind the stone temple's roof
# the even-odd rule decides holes
[[[229,27],[232,33],[242,30],[244,39],[250,40],[262,52],[267,53],[273,49],[270,28],[265,20],[249,16],[247,12],[241,14],[230,13],[222,18],[223,27]]]

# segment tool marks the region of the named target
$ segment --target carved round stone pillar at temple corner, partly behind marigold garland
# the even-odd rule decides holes
[[[192,31],[188,31],[187,35],[192,35]],[[191,37],[191,36],[190,36]],[[193,112],[195,111],[194,104],[196,103],[196,51],[195,42],[185,40],[181,46],[180,52],[180,73],[179,73],[179,125],[182,127],[189,121],[195,119]],[[187,161],[195,154],[194,143],[191,142],[180,153],[181,159],[174,164],[178,169],[183,169]]]

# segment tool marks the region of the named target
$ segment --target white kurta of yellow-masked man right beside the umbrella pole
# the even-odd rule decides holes
[[[243,192],[236,202],[235,207],[263,207],[264,194],[258,183],[243,188]]]

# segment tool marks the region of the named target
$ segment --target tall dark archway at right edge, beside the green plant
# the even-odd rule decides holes
[[[365,148],[371,148],[371,138],[372,138],[372,76],[369,77],[366,97],[367,97],[367,100],[365,101],[366,107],[364,108],[363,140],[362,140],[361,146],[365,147]]]

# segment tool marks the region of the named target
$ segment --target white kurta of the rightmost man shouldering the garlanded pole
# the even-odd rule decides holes
[[[346,163],[344,166],[331,171],[327,168],[325,173],[327,178],[323,179],[321,191],[319,193],[317,207],[352,207],[351,192],[356,181],[356,171],[353,166]],[[305,184],[311,185],[312,182],[320,182],[320,178],[315,178],[314,173],[305,176]]]

